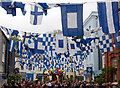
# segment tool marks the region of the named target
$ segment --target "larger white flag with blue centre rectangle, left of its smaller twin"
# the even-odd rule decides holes
[[[66,37],[62,34],[56,34],[56,47],[55,51],[57,53],[65,53],[67,52],[67,41]]]

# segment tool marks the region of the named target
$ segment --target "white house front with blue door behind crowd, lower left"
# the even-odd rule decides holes
[[[21,65],[21,63],[18,60],[25,62],[25,64]],[[19,68],[19,74],[22,77],[22,79],[34,81],[36,77],[38,77],[39,80],[43,80],[43,69],[40,70],[39,66],[35,68],[33,67],[33,65],[27,66],[25,59],[18,56],[15,58],[15,62],[15,67]]]

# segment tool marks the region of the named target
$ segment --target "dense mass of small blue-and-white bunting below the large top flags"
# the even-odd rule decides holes
[[[3,28],[3,30],[5,29],[6,28]],[[6,34],[10,35],[11,33],[8,33],[8,31],[6,31]],[[66,41],[67,38],[62,37],[63,35],[61,34],[56,34],[56,37],[53,37],[53,34],[48,34],[48,33],[46,34],[24,33],[24,34],[29,34],[29,35],[28,37],[23,36],[22,41],[24,40],[26,41],[26,39],[28,41],[22,42],[22,41],[10,40],[9,51],[13,52],[14,50],[17,50],[19,56],[26,58],[25,61],[26,63],[23,63],[23,61],[21,60],[19,61],[21,66],[26,65],[26,69],[29,69],[30,68],[29,66],[32,66],[33,70],[35,70],[36,68],[43,69],[44,67],[45,67],[44,70],[48,70],[50,68],[52,69],[61,68],[65,70],[66,68],[63,65],[64,64],[69,65],[70,62],[72,62],[72,63],[76,63],[76,67],[74,70],[78,71],[78,69],[81,68],[81,66],[79,66],[80,65],[79,63],[83,63],[82,61],[84,59],[87,59],[88,55],[91,52],[93,52],[94,48],[97,48],[99,46],[101,53],[113,51],[111,34],[105,34],[97,38],[95,37],[95,38],[87,38],[87,39],[84,38],[69,39],[68,41]],[[118,36],[114,38],[116,38],[117,42],[119,42],[119,34],[116,33],[116,35],[114,36]],[[66,42],[63,42],[64,40]],[[34,46],[33,48],[31,48],[30,44],[36,45],[36,41],[39,42],[37,43],[39,47],[43,47],[41,48],[43,53],[38,52],[39,51],[38,47]],[[96,47],[92,47],[93,43]],[[116,47],[118,47],[118,43],[116,44],[117,44]],[[47,48],[49,47],[49,45],[51,45],[52,47],[51,49]],[[62,52],[58,52],[57,50],[61,48],[65,48],[65,49],[63,49]],[[54,55],[52,53],[53,51],[54,51]],[[62,53],[64,54],[62,55]],[[80,57],[79,59],[72,59],[71,61],[70,58],[73,56],[75,56],[75,58],[77,58],[78,56]],[[41,60],[40,58],[43,58],[43,60]],[[80,62],[78,60],[80,60]],[[43,67],[41,67],[40,63],[43,63]],[[72,68],[67,67],[67,70],[65,71],[68,70],[71,71],[71,69]]]

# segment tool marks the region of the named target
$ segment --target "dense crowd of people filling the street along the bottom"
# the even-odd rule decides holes
[[[118,84],[109,83],[88,83],[81,81],[21,81],[18,83],[11,82],[11,84],[5,83],[2,88],[120,88]]]

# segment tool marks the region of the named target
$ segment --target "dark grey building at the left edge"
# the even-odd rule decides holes
[[[13,74],[15,68],[15,53],[8,51],[9,40],[0,29],[0,87],[7,82],[9,74]]]

